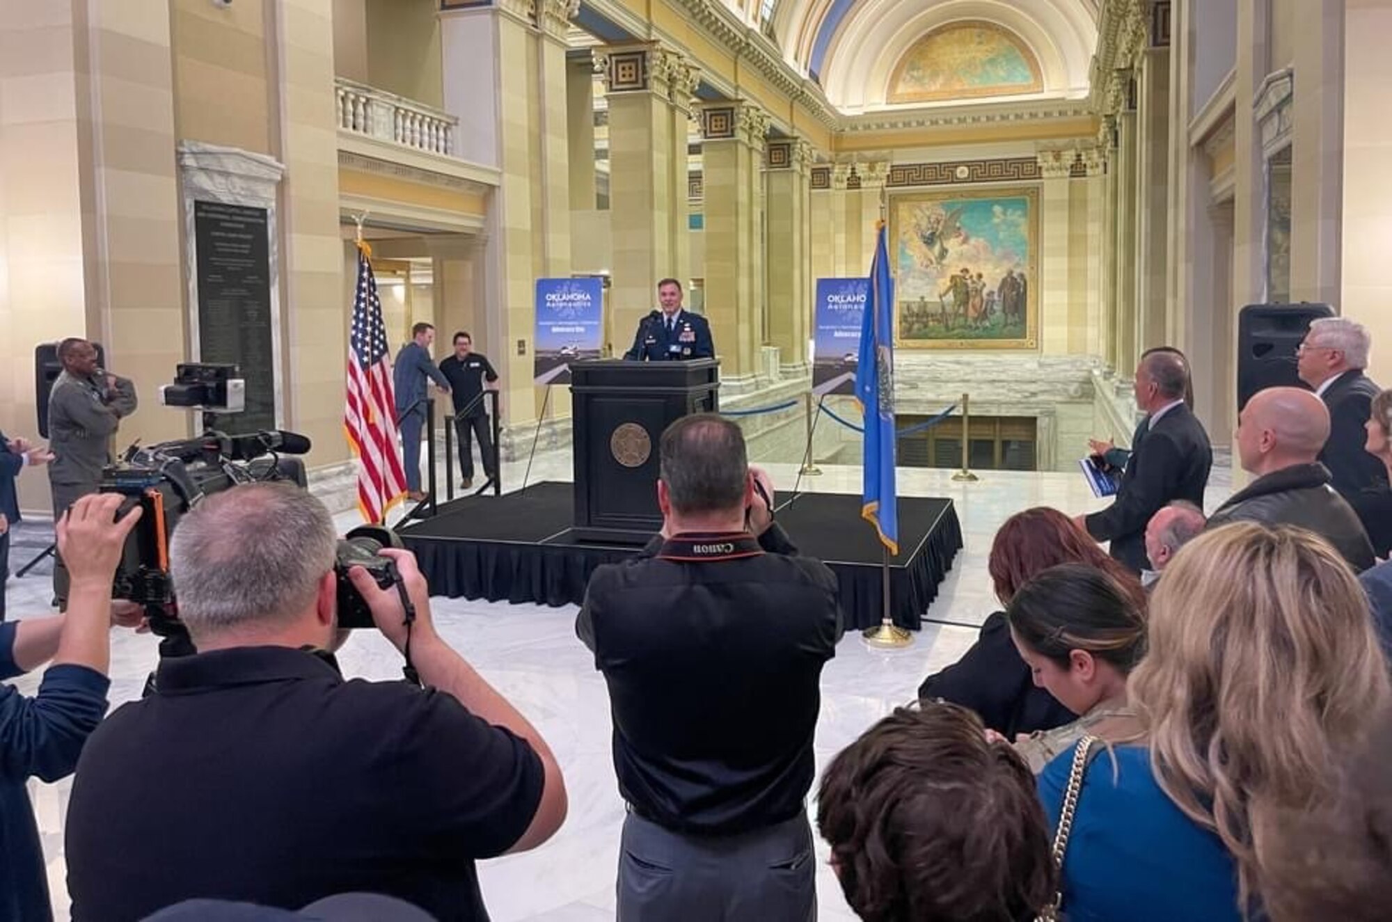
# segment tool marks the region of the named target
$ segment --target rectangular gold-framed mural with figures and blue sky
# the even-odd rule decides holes
[[[902,348],[1038,347],[1038,189],[889,196]]]

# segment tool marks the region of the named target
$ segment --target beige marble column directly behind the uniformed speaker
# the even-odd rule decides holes
[[[668,276],[683,286],[689,281],[683,274],[690,266],[685,127],[699,71],[689,58],[656,42],[610,46],[601,60],[614,241],[608,305],[614,351],[621,354],[642,316],[657,304],[657,281]],[[718,336],[715,344],[727,348]]]

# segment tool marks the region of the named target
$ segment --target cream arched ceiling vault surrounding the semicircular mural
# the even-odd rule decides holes
[[[789,64],[816,75],[832,106],[859,113],[924,104],[888,102],[895,68],[926,35],[962,21],[991,24],[1033,56],[1041,86],[1020,99],[1083,97],[1097,15],[1098,0],[778,0],[773,28]]]

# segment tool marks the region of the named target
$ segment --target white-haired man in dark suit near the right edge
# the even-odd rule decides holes
[[[1324,318],[1310,325],[1296,352],[1300,380],[1329,408],[1329,439],[1320,464],[1334,478],[1331,486],[1359,513],[1371,533],[1379,522],[1370,521],[1382,508],[1379,494],[1388,492],[1382,461],[1363,450],[1373,398],[1378,386],[1363,369],[1368,365],[1371,337],[1367,327],[1347,318]]]

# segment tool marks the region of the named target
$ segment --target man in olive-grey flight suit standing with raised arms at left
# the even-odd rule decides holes
[[[63,372],[49,393],[49,486],[53,519],[79,497],[96,493],[102,468],[110,462],[111,435],[124,416],[135,412],[135,384],[109,375],[96,364],[96,347],[71,337],[58,343]],[[67,600],[68,571],[63,553],[53,557],[53,596],[58,609]]]

